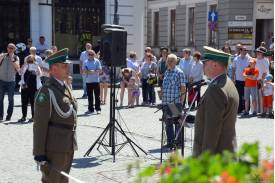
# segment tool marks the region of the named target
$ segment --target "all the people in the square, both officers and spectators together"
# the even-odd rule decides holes
[[[35,46],[31,39],[27,42],[26,49],[19,56],[13,43],[9,43],[7,52],[0,55],[0,120],[4,117],[5,93],[9,102],[6,121],[11,120],[14,93],[19,85],[22,117],[18,122],[27,120],[30,103],[29,122],[34,121],[33,155],[43,172],[42,180],[66,181],[65,177],[47,167],[47,163],[69,173],[77,149],[77,100],[71,92],[73,77],[69,75],[68,49],[58,51],[56,46],[50,48],[43,36]],[[101,105],[107,102],[110,68],[100,58],[100,49],[93,49],[91,43],[86,43],[85,48],[80,55],[82,97],[88,99],[87,115],[100,114]],[[167,47],[160,49],[159,56],[146,47],[141,62],[137,60],[136,52],[131,51],[126,67],[120,70],[119,106],[124,106],[126,90],[128,107],[139,105],[140,95],[141,105],[155,106],[155,87],[158,86],[168,148],[182,144],[181,124],[168,109],[169,104],[174,104],[180,113],[187,107],[197,109],[194,156],[207,150],[213,153],[234,151],[237,113],[241,117],[274,118],[274,47],[266,48],[262,43],[254,51],[255,58],[251,57],[245,45],[237,44],[234,48],[235,53],[232,53],[228,42],[223,51],[204,46],[203,55],[185,48],[180,58],[169,53]],[[203,79],[209,79],[210,83],[201,97]]]

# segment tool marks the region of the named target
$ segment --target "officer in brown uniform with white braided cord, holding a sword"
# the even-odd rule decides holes
[[[40,165],[42,182],[68,182],[58,171],[70,172],[77,148],[77,102],[65,84],[67,56],[68,49],[63,49],[46,59],[51,76],[35,97],[33,155]]]

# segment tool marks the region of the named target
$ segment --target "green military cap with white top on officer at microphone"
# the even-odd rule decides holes
[[[226,65],[228,65],[228,63],[230,62],[231,55],[229,53],[225,53],[221,50],[217,50],[209,46],[204,46],[203,49],[203,61],[213,60],[217,62],[223,62]]]

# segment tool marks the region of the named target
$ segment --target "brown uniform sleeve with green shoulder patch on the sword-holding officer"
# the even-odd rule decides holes
[[[49,92],[42,87],[35,97],[33,123],[33,155],[45,155],[48,123],[51,117]]]

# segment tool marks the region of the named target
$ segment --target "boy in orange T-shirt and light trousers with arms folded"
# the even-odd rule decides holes
[[[253,113],[252,116],[257,115],[257,77],[259,76],[259,70],[255,67],[256,59],[251,58],[249,60],[249,65],[243,71],[244,81],[244,100],[245,100],[245,112],[242,114],[243,117],[249,115],[249,103],[250,103],[250,95],[252,97],[252,105],[253,105]]]

